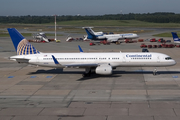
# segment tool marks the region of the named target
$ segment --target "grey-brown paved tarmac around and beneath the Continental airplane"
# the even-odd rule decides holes
[[[60,39],[61,43],[32,44],[41,52],[79,52],[78,45],[84,52],[141,51],[139,42],[89,46],[89,42]],[[16,55],[14,46],[9,37],[1,37],[0,120],[180,120],[179,50],[149,49],[177,62],[157,67],[157,75],[153,67],[119,67],[113,75],[83,78],[84,69],[10,61],[8,57]]]

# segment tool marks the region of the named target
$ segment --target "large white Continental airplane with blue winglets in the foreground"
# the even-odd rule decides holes
[[[52,68],[84,68],[83,77],[90,76],[91,72],[111,75],[116,67],[165,67],[176,64],[170,56],[155,52],[85,53],[79,46],[80,53],[43,53],[15,28],[7,30],[17,52],[10,60]],[[156,69],[154,72],[157,72]]]

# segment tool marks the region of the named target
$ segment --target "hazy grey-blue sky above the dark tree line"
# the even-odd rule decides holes
[[[180,13],[180,0],[0,0],[0,16]]]

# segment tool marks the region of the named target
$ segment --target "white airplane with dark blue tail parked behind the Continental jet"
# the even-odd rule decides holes
[[[88,34],[85,39],[107,40],[108,42],[117,42],[118,40],[122,39],[135,39],[139,37],[137,34],[134,33],[106,35],[103,32],[94,32],[91,28],[93,27],[83,27],[83,29],[85,29],[86,33]]]

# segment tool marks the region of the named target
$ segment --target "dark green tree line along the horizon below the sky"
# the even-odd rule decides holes
[[[72,20],[139,20],[153,23],[180,23],[180,14],[169,12],[156,13],[129,13],[129,14],[108,14],[108,15],[86,15],[56,16],[57,22]],[[25,24],[43,24],[53,23],[54,16],[0,16],[0,23],[25,23]]]

